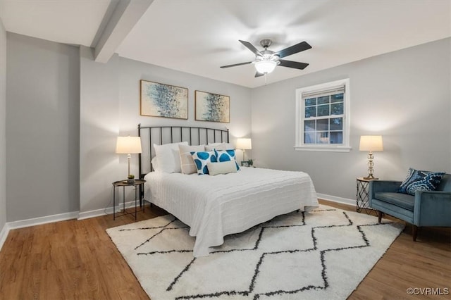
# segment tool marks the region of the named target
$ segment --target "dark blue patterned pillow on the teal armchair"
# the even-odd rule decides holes
[[[409,175],[401,183],[398,193],[415,196],[415,191],[435,191],[445,175],[444,172],[428,172],[409,168]]]

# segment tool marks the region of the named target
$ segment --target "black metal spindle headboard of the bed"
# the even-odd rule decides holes
[[[140,178],[152,172],[150,161],[155,156],[153,144],[188,142],[190,145],[228,143],[228,128],[217,129],[194,126],[142,126],[138,124],[142,154],[138,154]]]

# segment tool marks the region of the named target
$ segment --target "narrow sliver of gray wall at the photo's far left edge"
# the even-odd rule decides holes
[[[4,225],[6,224],[5,165],[6,165],[6,31],[0,19],[0,232],[4,228]]]

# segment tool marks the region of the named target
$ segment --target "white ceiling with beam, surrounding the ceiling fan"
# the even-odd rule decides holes
[[[219,68],[254,59],[238,39],[311,44],[284,58],[306,69],[278,66],[271,83],[451,36],[451,0],[0,0],[0,18],[9,32],[110,54],[98,61],[117,53],[245,87],[265,85],[253,65]]]

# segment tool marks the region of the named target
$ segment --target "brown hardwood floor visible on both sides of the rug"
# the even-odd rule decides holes
[[[147,206],[138,220],[162,214]],[[11,230],[0,251],[0,299],[149,299],[105,232],[132,222],[131,215],[104,215]],[[411,230],[407,225],[348,299],[451,299],[451,229],[421,228],[417,242]],[[409,287],[449,294],[409,296]]]

